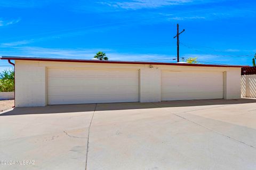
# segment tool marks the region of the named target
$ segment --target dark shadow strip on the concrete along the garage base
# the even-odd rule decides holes
[[[65,104],[52,105],[45,107],[22,107],[14,108],[11,111],[3,112],[0,116],[11,115],[30,115],[30,114],[60,114],[70,112],[88,112],[88,111],[105,111],[105,110],[127,110],[127,109],[151,109],[165,107],[189,107],[189,106],[211,106],[211,105],[226,105],[226,104],[242,104],[256,103],[256,99],[237,99],[237,100],[182,100],[182,101],[163,101],[154,103],[100,103],[97,104]]]

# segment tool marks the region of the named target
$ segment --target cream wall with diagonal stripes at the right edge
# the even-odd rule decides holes
[[[242,98],[256,98],[256,75],[241,76]]]

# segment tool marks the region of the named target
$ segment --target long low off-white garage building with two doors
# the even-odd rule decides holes
[[[15,60],[15,106],[239,99],[241,67],[209,64]]]

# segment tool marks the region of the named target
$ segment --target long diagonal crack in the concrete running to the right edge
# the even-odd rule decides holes
[[[155,104],[155,103],[153,103],[153,104]],[[155,106],[157,106],[157,107],[163,109],[162,107],[158,106],[157,104],[155,104]],[[215,107],[215,108],[218,108],[218,107]],[[166,109],[165,109],[165,110],[166,110]],[[205,108],[204,108],[204,109],[198,109],[198,110],[205,110]],[[167,111],[167,112],[170,112],[170,111],[168,111],[168,110],[166,110],[166,111]],[[185,111],[184,113],[186,113],[186,112],[189,112],[189,111]],[[173,114],[172,112],[170,112],[170,113]],[[187,120],[188,122],[194,123],[194,124],[196,124],[196,125],[198,125],[198,126],[201,126],[201,127],[203,127],[203,128],[206,128],[206,129],[208,129],[208,130],[210,130],[210,131],[212,131],[212,132],[215,132],[215,133],[218,133],[218,134],[220,134],[220,135],[222,135],[222,136],[228,137],[228,138],[231,139],[231,140],[237,141],[237,142],[239,142],[239,143],[245,144],[245,145],[247,145],[247,146],[249,146],[249,147],[251,147],[251,148],[256,149],[256,147],[254,147],[253,145],[247,144],[247,143],[245,143],[245,142],[243,142],[243,141],[239,141],[239,140],[235,139],[234,137],[227,136],[227,135],[225,135],[225,134],[223,134],[223,133],[221,133],[221,132],[215,131],[215,130],[212,129],[212,128],[203,126],[203,125],[201,125],[201,124],[198,124],[198,123],[196,123],[196,122],[194,122],[194,121],[192,121],[192,120],[189,120],[189,119],[187,119],[187,118],[185,118],[185,117],[182,117],[182,116],[179,116],[179,115],[177,115],[177,114],[173,114],[173,115],[178,116],[178,117],[180,117],[180,118],[182,118],[182,119],[185,119],[185,120]]]

